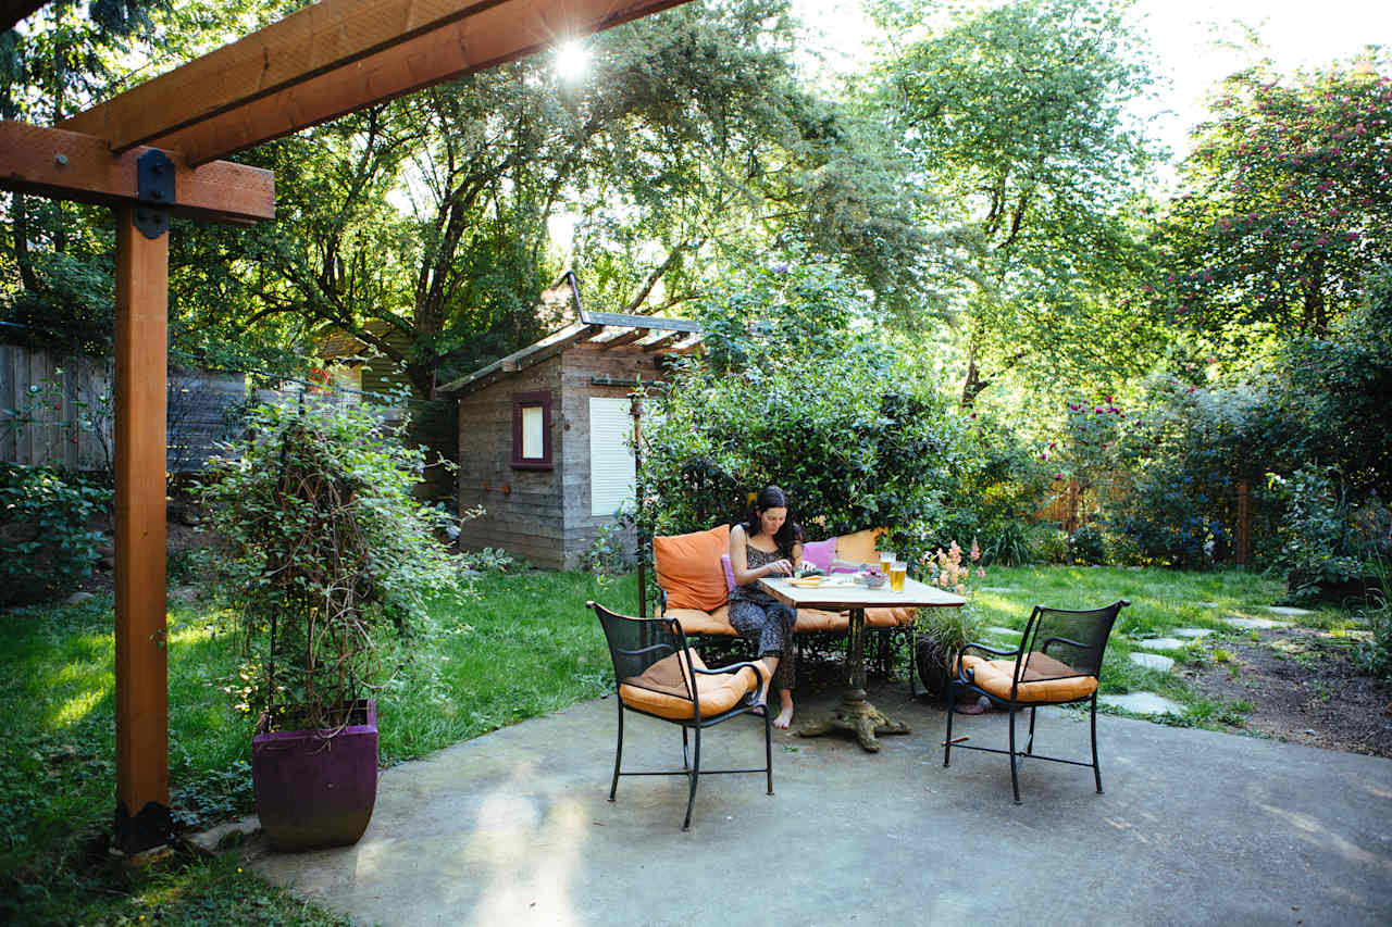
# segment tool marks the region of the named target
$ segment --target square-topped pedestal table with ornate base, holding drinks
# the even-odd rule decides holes
[[[788,576],[760,579],[759,585],[792,608],[851,612],[846,626],[846,688],[841,696],[841,707],[830,718],[800,728],[799,736],[814,738],[831,731],[851,731],[862,747],[876,753],[880,750],[877,734],[909,734],[909,725],[891,721],[866,699],[866,608],[951,607],[965,605],[966,599],[908,578],[903,580],[903,592],[894,592],[888,583],[880,589],[839,585],[793,586]]]

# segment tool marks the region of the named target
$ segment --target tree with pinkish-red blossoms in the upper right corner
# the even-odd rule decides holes
[[[1392,79],[1385,53],[1218,89],[1183,166],[1164,298],[1186,327],[1322,337],[1392,260]]]

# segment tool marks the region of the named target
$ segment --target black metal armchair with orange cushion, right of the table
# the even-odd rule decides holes
[[[942,766],[947,767],[952,747],[1004,753],[1011,757],[1011,788],[1015,803],[1020,803],[1019,767],[1026,757],[1093,767],[1097,793],[1102,793],[1102,772],[1097,766],[1097,679],[1102,667],[1102,651],[1112,632],[1116,615],[1130,605],[1125,599],[1105,608],[1066,611],[1034,605],[1029,624],[1015,650],[992,650],[979,643],[962,647],[956,660],[956,679],[948,686],[948,732],[942,743]],[[969,650],[980,650],[995,657],[977,657]],[[952,715],[956,708],[958,688],[984,695],[1011,713],[1011,749],[967,746],[952,742]],[[1066,760],[1034,753],[1034,711],[1044,704],[1090,703],[1093,761]],[[1025,750],[1015,749],[1015,714],[1030,710],[1030,734]]]

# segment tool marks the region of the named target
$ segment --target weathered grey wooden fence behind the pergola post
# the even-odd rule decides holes
[[[203,468],[214,444],[228,437],[228,413],[245,397],[245,374],[170,370],[166,447],[171,473]],[[110,469],[114,418],[111,360],[0,344],[0,461]]]

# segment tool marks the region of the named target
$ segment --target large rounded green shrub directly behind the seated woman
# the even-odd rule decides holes
[[[873,326],[849,326],[853,299],[789,266],[699,308],[709,355],[681,362],[644,429],[644,534],[731,522],[773,483],[810,540],[889,526],[906,557],[937,541],[960,419]]]

